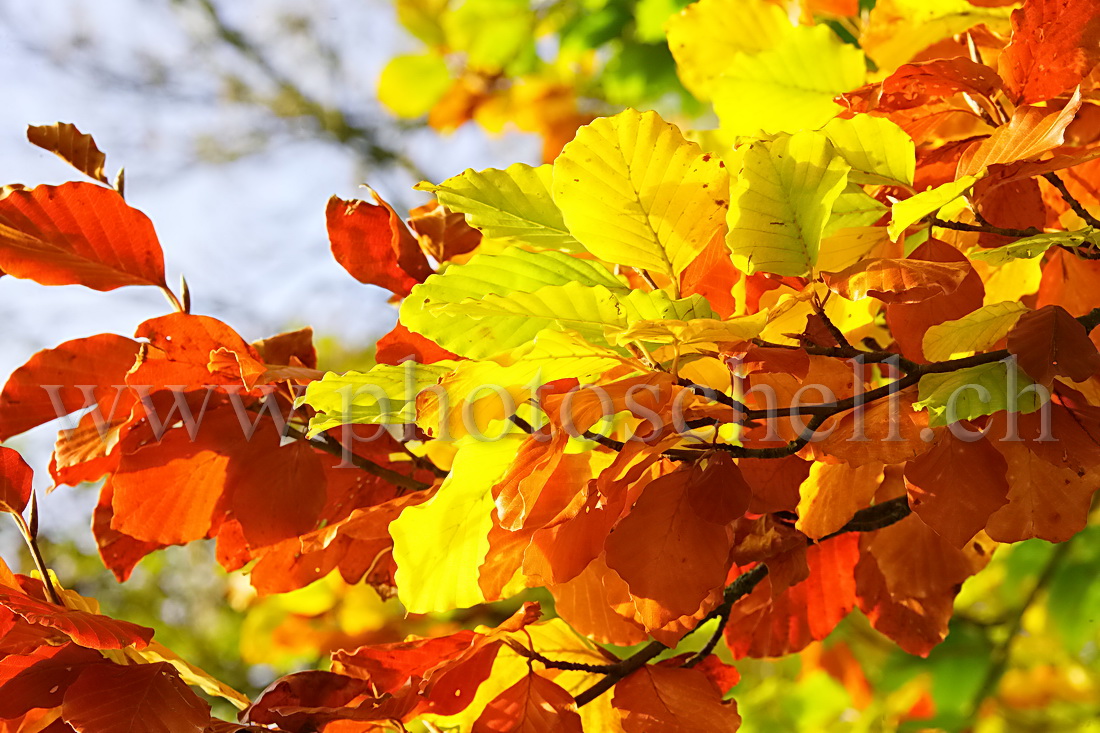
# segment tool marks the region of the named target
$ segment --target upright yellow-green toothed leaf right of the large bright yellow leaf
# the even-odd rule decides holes
[[[752,143],[729,207],[734,264],[749,274],[807,274],[847,174],[848,164],[821,132]]]

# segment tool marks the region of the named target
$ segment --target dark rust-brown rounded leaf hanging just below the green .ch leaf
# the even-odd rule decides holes
[[[905,466],[910,506],[944,539],[963,547],[1008,502],[1007,471],[1004,457],[985,437],[967,441],[945,430],[932,450]]]

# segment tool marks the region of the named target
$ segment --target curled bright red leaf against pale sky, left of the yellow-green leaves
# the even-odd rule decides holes
[[[374,200],[329,199],[324,215],[332,255],[359,282],[408,295],[431,267],[397,212],[377,194]]]

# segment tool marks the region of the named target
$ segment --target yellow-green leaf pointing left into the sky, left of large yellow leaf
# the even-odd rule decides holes
[[[516,163],[504,171],[468,169],[438,186],[417,190],[436,194],[439,203],[466,215],[466,222],[486,237],[547,250],[583,251],[550,195],[552,168]]]

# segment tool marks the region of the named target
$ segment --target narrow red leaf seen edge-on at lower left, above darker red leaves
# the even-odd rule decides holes
[[[89,649],[122,649],[128,646],[142,649],[153,638],[152,628],[54,605],[7,588],[0,588],[0,605],[29,623],[56,628]]]

